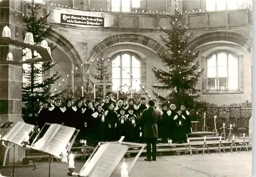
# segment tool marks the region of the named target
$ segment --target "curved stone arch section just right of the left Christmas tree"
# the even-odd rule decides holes
[[[71,61],[76,67],[80,67],[82,64],[82,59],[78,54],[75,47],[62,35],[59,33],[51,30],[48,39],[55,42],[57,45],[63,48],[67,55],[71,57]]]

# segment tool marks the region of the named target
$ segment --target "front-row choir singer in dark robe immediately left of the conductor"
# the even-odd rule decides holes
[[[134,114],[134,107],[127,108],[128,114],[127,117],[127,124],[126,124],[126,136],[125,141],[129,142],[136,142],[139,139],[138,133],[139,129],[137,126],[137,117]]]

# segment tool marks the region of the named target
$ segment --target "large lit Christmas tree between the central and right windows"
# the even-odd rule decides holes
[[[176,2],[175,2],[176,5]],[[154,85],[157,90],[169,91],[167,96],[161,96],[156,91],[154,95],[161,104],[174,103],[177,106],[185,105],[188,109],[198,108],[200,90],[197,88],[203,70],[199,69],[196,61],[199,52],[186,50],[192,34],[189,27],[182,24],[182,12],[176,5],[174,15],[169,15],[170,29],[162,29],[166,36],[161,39],[167,49],[158,54],[167,70],[153,67],[153,72],[160,85]]]

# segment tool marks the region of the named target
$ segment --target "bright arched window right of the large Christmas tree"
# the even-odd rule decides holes
[[[207,57],[207,90],[238,90],[238,57],[218,52]]]

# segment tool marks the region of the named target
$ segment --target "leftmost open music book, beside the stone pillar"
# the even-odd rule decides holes
[[[15,122],[12,128],[2,138],[2,140],[23,146],[22,143],[25,139],[25,132],[28,134],[34,129],[35,125],[31,125],[22,121]]]

